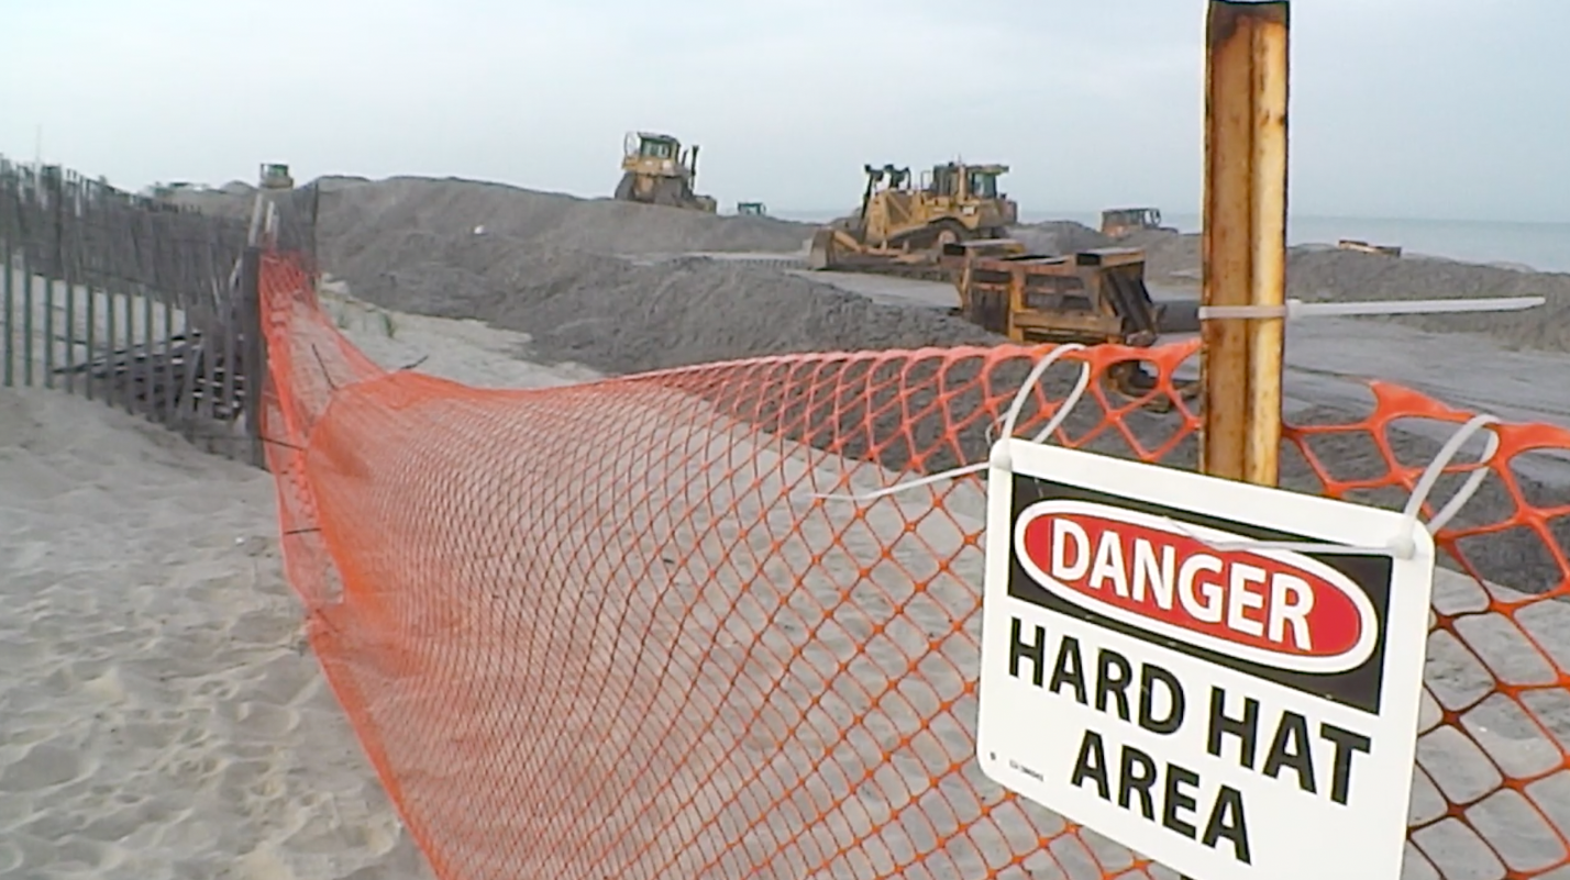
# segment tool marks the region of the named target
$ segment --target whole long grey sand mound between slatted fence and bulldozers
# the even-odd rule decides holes
[[[804,224],[435,180],[347,185],[323,195],[322,218],[325,267],[358,298],[521,329],[531,356],[608,372],[995,342],[959,318],[769,268],[609,256],[799,246]]]

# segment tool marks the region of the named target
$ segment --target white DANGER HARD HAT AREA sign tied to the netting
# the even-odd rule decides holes
[[[1407,558],[1356,552],[1408,524],[1003,442],[1013,472],[989,477],[983,596],[988,776],[1201,880],[1396,880],[1427,530]]]

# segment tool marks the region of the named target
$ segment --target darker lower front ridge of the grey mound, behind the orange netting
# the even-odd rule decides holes
[[[422,242],[429,245],[427,242]],[[884,306],[826,284],[703,257],[637,265],[586,251],[513,251],[345,275],[371,303],[477,317],[531,334],[531,359],[633,373],[794,351],[997,344],[969,322]],[[473,268],[471,268],[473,267]]]

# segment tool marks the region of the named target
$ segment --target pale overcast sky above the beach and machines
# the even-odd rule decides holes
[[[972,9],[972,11],[966,11]],[[728,207],[1005,162],[1030,215],[1195,213],[1204,0],[0,0],[0,154],[609,195],[630,129]],[[1295,213],[1570,221],[1570,2],[1297,0]]]

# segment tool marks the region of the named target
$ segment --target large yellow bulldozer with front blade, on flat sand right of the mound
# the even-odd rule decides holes
[[[948,279],[939,256],[945,245],[984,245],[991,253],[1024,253],[1003,238],[1019,207],[999,190],[1006,165],[950,162],[922,173],[864,166],[867,188],[854,215],[820,229],[809,265],[816,270],[873,271],[907,278]]]

